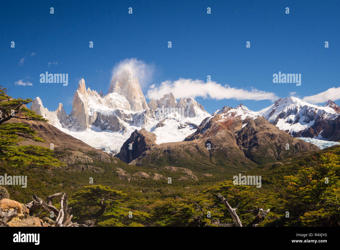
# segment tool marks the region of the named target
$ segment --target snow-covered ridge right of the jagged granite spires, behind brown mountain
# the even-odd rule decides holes
[[[209,118],[203,120],[200,127],[204,124],[207,126],[209,121],[217,115],[216,121],[218,122],[243,120],[242,128],[246,126],[247,120],[264,116],[280,130],[284,130],[297,138],[302,137],[300,139],[306,138],[305,141],[313,143],[321,149],[339,144],[337,141],[340,139],[338,138],[340,134],[340,107],[331,100],[324,106],[319,106],[295,97],[289,97],[278,99],[273,105],[258,112],[249,110],[242,103],[236,108],[224,106],[215,111]],[[333,138],[336,141],[330,140]]]

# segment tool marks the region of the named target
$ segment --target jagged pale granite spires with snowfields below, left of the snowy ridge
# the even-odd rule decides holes
[[[107,95],[86,89],[82,79],[74,93],[70,115],[66,115],[61,103],[56,111],[48,111],[39,97],[32,102],[31,110],[61,131],[112,154],[119,152],[136,129],[155,133],[157,144],[182,141],[210,116],[194,99],[177,102],[172,93],[160,100],[152,99],[155,105],[150,109],[138,79],[130,75],[128,70],[116,74]]]

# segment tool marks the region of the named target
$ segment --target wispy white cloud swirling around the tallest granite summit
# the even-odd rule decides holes
[[[141,88],[143,88],[151,83],[155,67],[153,64],[147,64],[143,61],[139,61],[137,58],[127,58],[115,65],[112,70],[112,76],[124,68],[130,70],[132,77],[138,78],[139,85]]]

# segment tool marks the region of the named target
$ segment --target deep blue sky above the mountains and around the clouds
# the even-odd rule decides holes
[[[286,7],[290,14],[285,14]],[[13,97],[39,96],[52,111],[62,102],[70,113],[81,78],[86,87],[106,94],[113,67],[135,57],[155,66],[156,85],[179,78],[206,81],[210,75],[222,85],[253,87],[282,98],[295,91],[302,98],[339,87],[339,7],[340,1],[310,0],[6,1],[0,9],[0,85],[10,88]],[[329,48],[324,48],[325,41]],[[57,65],[48,67],[49,62]],[[68,86],[40,83],[45,71],[68,73]],[[272,75],[278,71],[301,73],[301,86],[274,84]],[[33,86],[15,85],[20,79]],[[142,90],[146,94],[148,86]],[[209,113],[240,102],[255,111],[272,104],[196,100]]]

